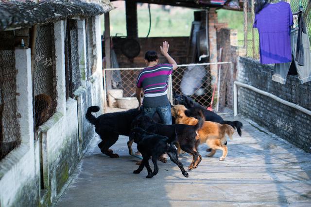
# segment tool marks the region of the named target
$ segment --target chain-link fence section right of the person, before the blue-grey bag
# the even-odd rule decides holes
[[[232,109],[232,63],[219,63],[217,70],[210,64],[180,65],[172,74],[173,93],[189,96],[195,102],[213,111]]]

